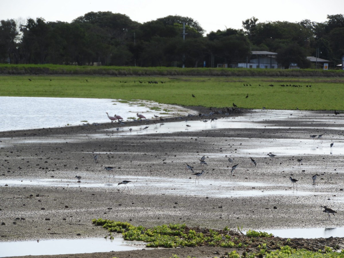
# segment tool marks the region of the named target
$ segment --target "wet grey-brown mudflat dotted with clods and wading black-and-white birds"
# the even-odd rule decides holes
[[[132,131],[125,136],[116,130],[185,123],[167,118],[1,132],[0,241],[105,237],[108,233],[92,224],[93,218],[144,227],[166,223],[233,230],[343,227],[341,115],[295,110],[287,118],[272,116],[259,122],[261,126],[216,129],[210,126],[211,118],[245,116],[254,122],[257,112],[188,108],[195,110],[194,116],[184,119],[206,118],[208,127],[174,133]],[[200,161],[203,155],[206,165]],[[113,169],[106,170],[108,166]],[[202,170],[201,176],[193,175]],[[75,176],[81,176],[80,182]],[[293,185],[290,177],[298,181]],[[126,188],[118,185],[123,180],[131,181]],[[337,213],[328,219],[322,206]],[[315,241],[344,247],[343,238]],[[202,246],[94,254],[80,250],[68,257],[215,257],[226,252]]]

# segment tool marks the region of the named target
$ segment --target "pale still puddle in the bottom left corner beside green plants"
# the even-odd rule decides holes
[[[24,255],[60,255],[142,249],[144,242],[123,238],[49,239],[0,242],[0,257]],[[141,246],[139,246],[141,245]],[[114,255],[115,256],[115,255]]]

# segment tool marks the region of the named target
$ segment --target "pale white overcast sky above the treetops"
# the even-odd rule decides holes
[[[91,11],[126,14],[140,23],[168,15],[187,16],[208,33],[226,27],[242,29],[241,22],[252,16],[258,22],[324,22],[327,14],[344,14],[344,0],[0,0],[0,20],[42,17],[71,22]]]

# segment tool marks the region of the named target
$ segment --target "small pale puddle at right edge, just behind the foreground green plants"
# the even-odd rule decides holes
[[[287,228],[260,230],[283,238],[344,237],[344,228]]]

